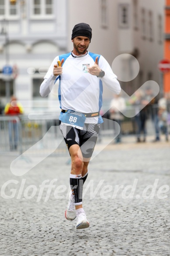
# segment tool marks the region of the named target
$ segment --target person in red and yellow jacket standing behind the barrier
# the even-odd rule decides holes
[[[13,101],[13,102],[12,102]],[[11,115],[11,116],[16,116],[16,115],[21,115],[23,114],[23,108],[20,103],[17,102],[17,98],[12,96],[11,97],[11,102],[7,103],[4,109],[4,114],[5,115]],[[9,140],[10,140],[10,149],[17,149],[18,147],[18,138],[19,138],[19,127],[18,123],[16,120],[11,120],[8,122],[8,127],[9,127]]]

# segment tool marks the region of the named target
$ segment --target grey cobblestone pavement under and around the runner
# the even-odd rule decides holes
[[[90,162],[83,198],[90,227],[85,230],[76,230],[76,221],[64,216],[70,191],[68,156],[50,156],[21,177],[10,171],[14,158],[0,156],[0,186],[13,180],[4,190],[13,198],[0,196],[1,256],[170,255],[169,142],[110,144]],[[54,187],[51,193],[44,188],[40,196],[44,180],[53,180]],[[147,187],[154,183],[155,193]],[[134,184],[132,195],[126,186]]]

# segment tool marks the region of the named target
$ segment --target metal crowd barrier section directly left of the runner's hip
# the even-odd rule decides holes
[[[47,119],[48,118],[48,119]],[[21,151],[28,154],[68,154],[56,115],[21,117]]]

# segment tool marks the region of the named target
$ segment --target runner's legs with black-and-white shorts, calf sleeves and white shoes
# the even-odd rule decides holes
[[[70,184],[72,193],[70,193],[65,216],[67,220],[74,220],[77,216],[77,229],[89,227],[85,211],[82,208],[82,188],[87,178],[88,164],[96,144],[99,127],[100,125],[85,124],[83,130],[77,130],[60,123],[60,130],[71,155]],[[74,215],[74,205],[76,215]]]

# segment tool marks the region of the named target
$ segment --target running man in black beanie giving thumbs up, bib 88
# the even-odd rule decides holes
[[[91,38],[92,29],[88,24],[75,25],[71,36],[73,50],[53,60],[40,87],[41,96],[46,97],[59,79],[60,130],[71,155],[71,192],[65,216],[67,220],[77,217],[76,229],[89,227],[82,206],[82,190],[100,123],[103,123],[99,115],[103,83],[114,94],[121,90],[105,58],[87,50]]]

